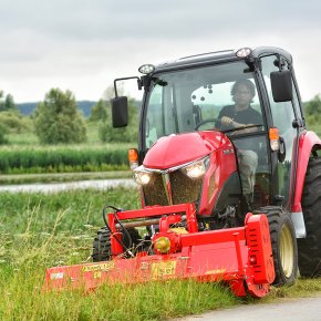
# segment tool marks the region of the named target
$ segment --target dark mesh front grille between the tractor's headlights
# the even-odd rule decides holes
[[[148,185],[143,187],[146,205],[169,205],[159,173],[153,173]],[[199,198],[203,177],[191,179],[179,169],[169,174],[173,204],[195,203]]]

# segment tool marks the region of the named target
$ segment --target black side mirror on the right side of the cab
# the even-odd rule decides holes
[[[289,70],[270,73],[273,100],[276,103],[290,102],[293,99],[292,76]]]

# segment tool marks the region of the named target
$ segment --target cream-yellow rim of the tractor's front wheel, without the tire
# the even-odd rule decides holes
[[[294,247],[292,241],[292,234],[288,226],[283,226],[281,230],[280,259],[284,276],[290,278],[293,272]]]

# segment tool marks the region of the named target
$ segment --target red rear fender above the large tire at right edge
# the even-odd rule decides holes
[[[314,146],[321,149],[321,139],[313,132],[303,132],[299,138],[299,157],[292,213],[302,213],[301,197],[311,151]]]

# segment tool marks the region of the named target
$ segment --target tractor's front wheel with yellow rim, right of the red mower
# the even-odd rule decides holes
[[[298,277],[298,246],[293,222],[288,213],[277,206],[263,207],[256,213],[269,220],[276,279],[273,286],[292,286]]]

